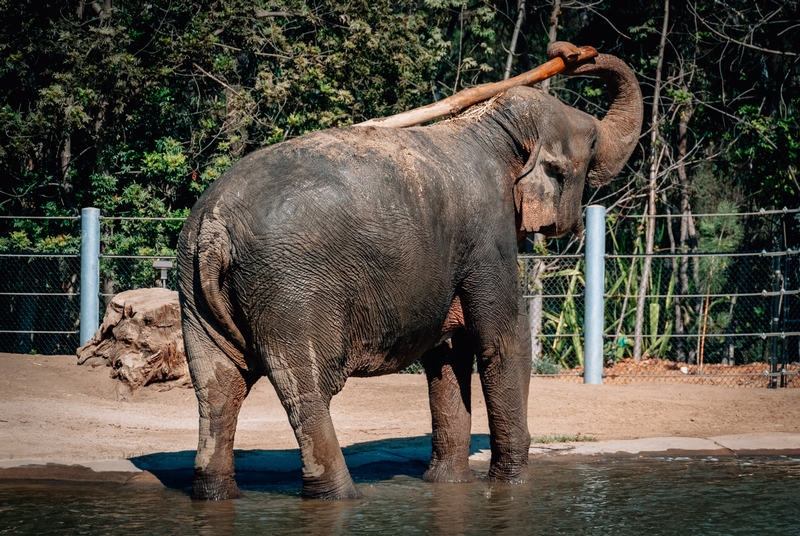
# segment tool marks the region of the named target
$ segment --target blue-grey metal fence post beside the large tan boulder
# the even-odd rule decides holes
[[[81,333],[83,346],[100,326],[100,209],[81,210]]]

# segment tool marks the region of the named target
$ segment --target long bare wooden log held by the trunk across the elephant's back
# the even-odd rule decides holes
[[[593,59],[597,57],[597,50],[593,47],[572,47],[575,53],[566,54],[564,57],[558,56],[550,61],[531,69],[521,75],[503,80],[502,82],[494,82],[491,84],[483,84],[463,91],[459,91],[455,95],[451,95],[446,99],[438,102],[414,108],[407,112],[402,112],[388,117],[380,117],[378,119],[369,119],[362,123],[357,123],[359,127],[382,127],[382,128],[406,128],[448,117],[457,114],[464,108],[483,102],[501,93],[517,86],[531,86],[543,80],[557,75],[567,67],[575,66],[578,63]]]

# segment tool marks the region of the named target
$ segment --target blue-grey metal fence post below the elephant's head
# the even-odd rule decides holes
[[[586,300],[583,383],[603,383],[606,208],[586,207]]]

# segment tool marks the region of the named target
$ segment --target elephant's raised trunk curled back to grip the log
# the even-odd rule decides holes
[[[563,45],[553,43],[548,56],[557,55],[559,46]],[[608,88],[611,107],[598,122],[597,147],[587,176],[591,186],[603,186],[622,170],[636,148],[644,113],[642,91],[633,71],[622,60],[607,54],[567,67],[562,74],[596,76]]]

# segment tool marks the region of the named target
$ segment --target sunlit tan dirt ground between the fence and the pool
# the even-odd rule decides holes
[[[101,460],[194,450],[191,389],[120,390],[106,367],[75,356],[0,354],[0,460]],[[680,383],[589,386],[533,379],[533,435],[598,440],[742,433],[800,433],[800,389],[741,389]],[[342,446],[430,433],[422,375],[351,378],[331,407]],[[487,434],[486,406],[473,379],[473,434]],[[269,381],[245,401],[237,449],[293,449],[296,443]]]

